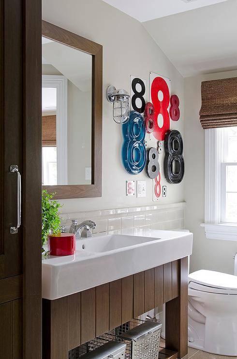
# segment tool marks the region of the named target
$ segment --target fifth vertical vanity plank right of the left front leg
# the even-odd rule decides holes
[[[122,323],[133,318],[133,276],[122,278]]]

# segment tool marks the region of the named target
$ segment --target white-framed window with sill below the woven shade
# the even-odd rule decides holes
[[[237,127],[205,130],[205,233],[237,241]]]

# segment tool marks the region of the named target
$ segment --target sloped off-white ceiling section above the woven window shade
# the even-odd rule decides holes
[[[143,23],[184,76],[237,69],[237,0]]]

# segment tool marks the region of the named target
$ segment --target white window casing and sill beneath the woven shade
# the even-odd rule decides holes
[[[223,129],[205,130],[205,228],[206,238],[237,241],[237,224],[223,222],[225,171]],[[233,163],[231,163],[233,164]]]

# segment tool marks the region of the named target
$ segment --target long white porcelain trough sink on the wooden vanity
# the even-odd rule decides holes
[[[193,234],[130,229],[76,241],[73,256],[42,261],[45,299],[84,291],[192,254]]]

